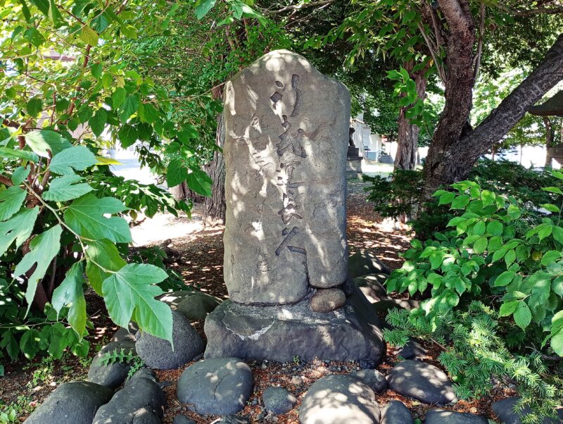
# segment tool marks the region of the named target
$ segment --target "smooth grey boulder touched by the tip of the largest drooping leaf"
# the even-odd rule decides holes
[[[179,368],[205,349],[205,343],[188,320],[177,311],[172,311],[172,345],[147,332],[137,332],[137,354],[151,368],[172,370]]]

